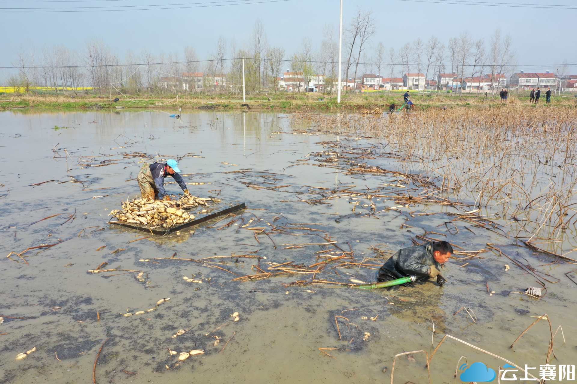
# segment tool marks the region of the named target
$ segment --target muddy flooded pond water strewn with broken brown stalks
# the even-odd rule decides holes
[[[445,334],[541,378],[560,325],[549,363],[577,363],[571,260],[527,248],[499,204],[433,197],[426,164],[383,155],[373,123],[329,118],[0,113],[0,383],[386,383],[395,355],[414,352],[396,359],[394,382],[424,384]],[[247,209],[164,236],[107,223],[140,195],[143,161],[166,159],[179,159],[192,195]],[[459,251],[443,287],[331,284],[374,282],[392,253],[431,239]],[[114,271],[88,272],[98,268]],[[543,298],[519,293],[537,280]],[[471,345],[445,338],[430,381],[459,383],[465,362],[507,363]],[[179,362],[190,351],[204,353]]]

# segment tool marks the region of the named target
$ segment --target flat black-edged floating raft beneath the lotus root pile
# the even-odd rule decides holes
[[[189,214],[194,215],[195,216],[194,219],[190,220],[188,223],[182,223],[170,228],[163,228],[163,227],[151,228],[143,224],[126,223],[122,221],[111,222],[111,224],[127,227],[130,229],[136,229],[138,231],[143,231],[146,233],[152,232],[155,235],[166,235],[172,232],[183,230],[188,227],[192,227],[194,225],[198,225],[200,223],[204,223],[205,221],[217,218],[218,216],[230,214],[230,212],[243,210],[245,207],[246,207],[245,203],[238,203],[237,201],[224,201],[224,200],[220,201],[220,203],[218,204],[209,207],[206,212],[201,212],[203,209],[206,209],[206,207],[200,206],[192,210],[186,211]]]

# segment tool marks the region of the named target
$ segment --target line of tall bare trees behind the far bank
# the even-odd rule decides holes
[[[402,77],[403,73],[422,73],[436,78],[439,73],[454,73],[459,78],[485,74],[510,74],[515,67],[511,37],[497,29],[490,40],[474,39],[468,32],[441,42],[434,36],[407,42],[398,48],[374,41],[377,21],[371,10],[361,8],[343,26],[342,77],[359,78],[362,74]],[[85,47],[75,50],[65,45],[35,50],[18,50],[12,63],[17,73],[5,83],[21,92],[38,92],[37,88],[65,94],[78,94],[83,88],[92,93],[115,94],[186,94],[241,93],[242,59],[247,93],[278,92],[277,77],[286,70],[299,73],[299,80],[314,82],[322,76],[327,93],[338,79],[338,26],[327,24],[320,41],[302,39],[293,54],[269,44],[264,24],[257,20],[248,41],[237,46],[235,40],[219,36],[211,52],[200,59],[194,47],[181,52],[154,54],[145,49],[140,54],[126,51],[123,57],[99,39],[89,39]],[[203,73],[203,86],[183,79],[183,73]],[[215,77],[226,75],[226,85],[216,85]],[[162,82],[161,78],[168,78]],[[176,84],[178,82],[178,85]],[[189,83],[183,89],[182,83]],[[167,85],[170,84],[170,86]],[[300,87],[299,87],[300,88]]]

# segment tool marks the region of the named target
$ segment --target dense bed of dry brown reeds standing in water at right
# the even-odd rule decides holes
[[[509,105],[380,116],[298,113],[293,127],[349,139],[325,143],[333,151],[320,154],[327,166],[396,175],[400,183],[418,179],[428,199],[470,204],[530,248],[567,257],[577,248],[576,121],[572,108]],[[351,140],[362,138],[381,145],[351,148]],[[392,169],[370,165],[383,157]]]

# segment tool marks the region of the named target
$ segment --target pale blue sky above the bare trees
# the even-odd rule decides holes
[[[66,45],[81,52],[85,40],[102,39],[122,57],[126,50],[140,54],[144,49],[158,54],[160,51],[180,52],[192,45],[201,59],[215,50],[220,35],[237,47],[249,40],[254,22],[260,18],[270,45],[283,47],[287,54],[299,50],[304,37],[312,39],[318,48],[325,24],[332,24],[338,31],[339,0],[248,0],[252,4],[189,7],[164,10],[130,10],[120,12],[51,12],[6,13],[8,8],[31,7],[102,7],[143,6],[197,3],[211,5],[214,0],[107,0],[107,1],[0,1],[2,30],[8,31],[0,39],[0,67],[11,66],[18,49],[40,52],[42,47]],[[245,0],[246,1],[246,0]],[[454,0],[343,0],[343,24],[349,24],[358,7],[373,10],[377,30],[370,44],[381,41],[387,50],[398,49],[417,38],[428,40],[436,36],[441,42],[467,31],[473,39],[485,39],[488,44],[496,28],[503,35],[510,35],[518,69],[526,72],[556,72],[557,64],[577,64],[577,33],[575,23],[577,2],[552,0],[555,5],[573,9],[544,9],[533,7],[501,7],[457,5],[443,2]],[[474,0],[478,1],[478,0]],[[505,0],[488,0],[498,2]],[[506,0],[508,3],[531,5],[546,4],[544,0]],[[260,3],[259,3],[260,2]],[[222,4],[223,2],[219,3]],[[226,3],[226,2],[225,2]],[[229,2],[230,3],[230,2]],[[502,4],[502,3],[501,3]],[[195,5],[181,5],[195,6]],[[173,6],[174,7],[174,6]],[[123,8],[125,9],[125,8]],[[44,11],[53,10],[45,9]],[[228,57],[233,57],[229,52]],[[577,73],[571,66],[569,73]],[[7,70],[0,70],[0,78]]]

